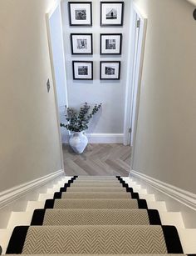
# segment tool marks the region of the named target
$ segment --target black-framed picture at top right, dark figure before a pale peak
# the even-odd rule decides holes
[[[100,26],[122,26],[124,2],[100,2]]]

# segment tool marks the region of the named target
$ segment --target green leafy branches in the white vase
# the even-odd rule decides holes
[[[80,108],[79,113],[74,108],[66,108],[66,121],[67,124],[61,123],[60,126],[66,128],[68,131],[80,133],[88,128],[88,123],[91,118],[100,110],[101,103],[95,105],[90,112],[90,105],[84,103]]]

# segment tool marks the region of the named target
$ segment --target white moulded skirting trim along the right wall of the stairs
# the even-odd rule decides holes
[[[185,206],[196,211],[196,194],[190,193],[187,190],[177,188],[169,183],[164,183],[159,179],[149,177],[143,173],[139,173],[136,171],[130,171],[130,176],[135,176],[135,178],[140,178],[140,180],[148,183],[152,188],[155,188],[161,193],[166,194],[169,198],[173,198],[179,203],[184,204]]]

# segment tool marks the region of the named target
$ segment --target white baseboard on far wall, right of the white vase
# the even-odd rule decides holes
[[[123,143],[123,133],[86,133],[89,143]]]

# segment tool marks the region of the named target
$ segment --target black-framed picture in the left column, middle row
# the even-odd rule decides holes
[[[91,33],[71,33],[72,54],[92,54],[92,45]]]

